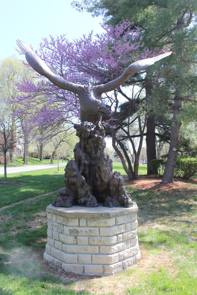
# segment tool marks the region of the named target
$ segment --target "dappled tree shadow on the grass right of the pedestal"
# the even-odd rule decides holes
[[[181,192],[179,189],[158,192],[134,189],[131,185],[127,185],[126,189],[139,207],[138,221],[141,225],[165,217],[168,221],[173,221],[182,214],[192,213],[193,206],[197,205],[196,190],[192,189],[183,189]]]

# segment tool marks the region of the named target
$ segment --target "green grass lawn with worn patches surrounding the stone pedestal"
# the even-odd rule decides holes
[[[114,169],[125,174],[119,163]],[[145,169],[140,165],[140,174]],[[150,191],[127,185],[139,206],[141,263],[110,277],[86,278],[56,272],[42,262],[45,209],[56,193],[32,198],[64,186],[63,173],[53,171],[8,174],[8,180],[25,184],[0,187],[0,207],[24,201],[0,211],[0,295],[197,294],[196,189]]]

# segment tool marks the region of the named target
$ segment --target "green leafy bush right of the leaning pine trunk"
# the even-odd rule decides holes
[[[179,166],[180,174],[185,179],[197,174],[197,159],[196,158],[179,158],[177,161]]]

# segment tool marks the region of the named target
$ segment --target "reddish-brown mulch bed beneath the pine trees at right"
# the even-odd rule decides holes
[[[147,190],[152,190],[152,191],[168,191],[171,189],[195,189],[197,190],[196,187],[192,186],[187,186],[186,183],[191,183],[191,184],[196,184],[197,185],[197,179],[192,179],[190,181],[183,180],[182,178],[176,178],[174,180],[174,183],[167,183],[163,184],[162,178],[159,176],[147,176],[147,175],[140,175],[138,180],[133,180],[133,181],[125,181],[125,184],[130,184],[136,189],[147,189]]]

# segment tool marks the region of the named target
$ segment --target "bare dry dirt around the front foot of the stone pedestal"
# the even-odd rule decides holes
[[[50,275],[58,276],[65,288],[75,290],[76,292],[87,290],[91,294],[110,294],[125,295],[126,289],[135,286],[139,281],[139,272],[144,273],[147,271],[159,271],[159,267],[165,267],[170,272],[176,272],[172,267],[173,259],[169,257],[169,252],[161,251],[159,255],[146,254],[146,249],[140,247],[142,259],[141,262],[134,266],[138,268],[137,273],[130,273],[132,268],[115,274],[113,276],[84,276],[75,273],[64,273],[51,267],[43,260],[44,250],[34,252],[34,260],[39,261],[39,265],[44,268],[40,274],[36,275]],[[37,253],[37,257],[35,255]],[[32,258],[31,258],[32,259]]]

